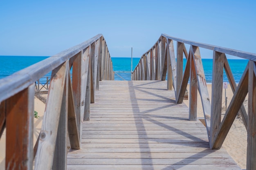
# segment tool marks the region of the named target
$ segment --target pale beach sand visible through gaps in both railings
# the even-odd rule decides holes
[[[207,85],[209,97],[211,99],[211,84]],[[189,91],[189,86],[187,87]],[[233,92],[228,86],[227,89],[227,97],[228,104],[231,101],[233,96]],[[222,95],[222,116],[225,114],[225,93],[223,91]],[[184,103],[189,107],[189,100],[184,100]],[[245,109],[247,110],[247,104],[245,103]],[[45,111],[45,104],[41,102],[39,99],[35,98],[35,110],[38,112],[40,116],[39,119],[34,118],[34,144],[40,132],[40,128],[42,126],[43,113]],[[198,93],[198,117],[203,116],[201,99]],[[4,132],[0,139],[0,170],[4,170],[4,157],[5,157],[5,136]],[[246,169],[246,150],[247,150],[247,131],[243,124],[241,118],[235,119],[231,129],[227,135],[227,138],[224,141],[223,147],[227,150],[229,155],[236,161],[238,166],[242,169]]]

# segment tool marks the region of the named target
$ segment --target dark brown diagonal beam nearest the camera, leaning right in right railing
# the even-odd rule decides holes
[[[248,64],[240,79],[238,87],[236,88],[234,96],[231,99],[229,107],[227,108],[226,114],[222,119],[222,122],[220,124],[220,127],[218,128],[216,136],[213,139],[212,146],[211,146],[212,149],[219,149],[222,146],[227,136],[227,133],[229,132],[229,129],[231,128],[231,125],[233,124],[233,121],[236,118],[238,110],[240,109],[240,107],[243,104],[243,101],[245,100],[247,93],[248,93]]]

